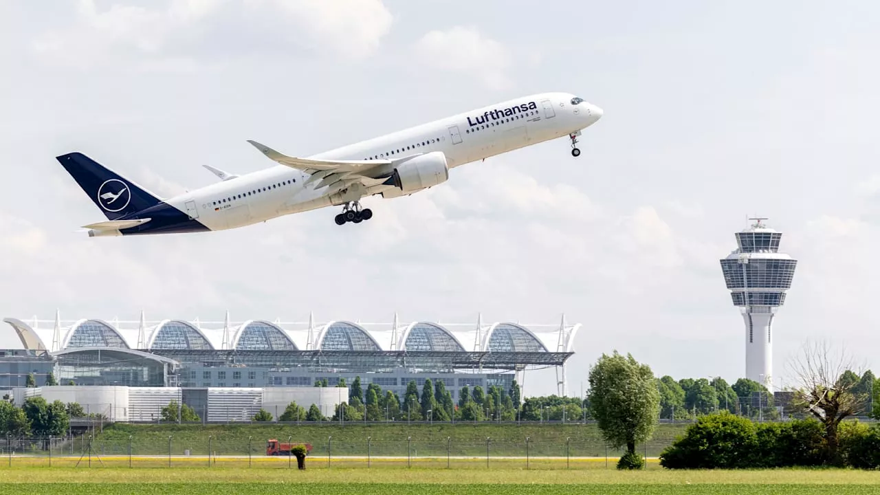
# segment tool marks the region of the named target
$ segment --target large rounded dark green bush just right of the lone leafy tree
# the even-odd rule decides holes
[[[741,469],[754,465],[759,450],[752,421],[728,411],[700,417],[660,454],[668,469]]]

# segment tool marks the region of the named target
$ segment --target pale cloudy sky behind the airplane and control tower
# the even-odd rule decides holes
[[[744,373],[718,260],[759,214],[799,260],[776,376],[805,339],[880,344],[872,61],[880,4],[186,0],[0,4],[0,316],[583,323],[658,374]],[[605,116],[441,187],[222,233],[90,239],[55,156],[160,196],[532,92]],[[0,345],[17,339],[8,333]],[[531,394],[553,392],[532,380]]]

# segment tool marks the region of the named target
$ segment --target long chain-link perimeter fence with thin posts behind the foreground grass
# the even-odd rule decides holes
[[[623,451],[607,447],[600,440],[534,441],[416,440],[413,437],[375,441],[325,439],[307,442],[311,451],[307,469],[344,468],[448,468],[448,469],[613,469]],[[282,447],[273,448],[268,440]],[[301,445],[293,436],[281,439],[214,438],[187,436],[166,440],[104,440],[92,434],[72,438],[7,435],[0,440],[2,467],[129,467],[136,468],[274,468],[297,469],[290,447]],[[636,451],[656,457],[671,443],[655,440],[640,444]],[[656,462],[649,462],[649,468]]]

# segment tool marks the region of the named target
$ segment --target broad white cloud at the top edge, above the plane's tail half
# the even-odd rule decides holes
[[[40,33],[33,49],[52,63],[134,65],[143,71],[192,70],[198,47],[232,40],[286,41],[319,54],[371,55],[392,26],[381,0],[182,0],[149,6],[80,0],[74,18]],[[212,17],[221,22],[212,24]],[[225,24],[224,24],[225,23]],[[224,29],[234,29],[233,33]],[[231,52],[228,56],[233,55]]]

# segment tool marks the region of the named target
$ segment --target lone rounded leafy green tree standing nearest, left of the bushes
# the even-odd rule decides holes
[[[603,438],[613,448],[626,446],[633,456],[635,444],[651,438],[660,414],[654,373],[631,354],[624,358],[614,351],[598,359],[589,381],[590,410]]]

